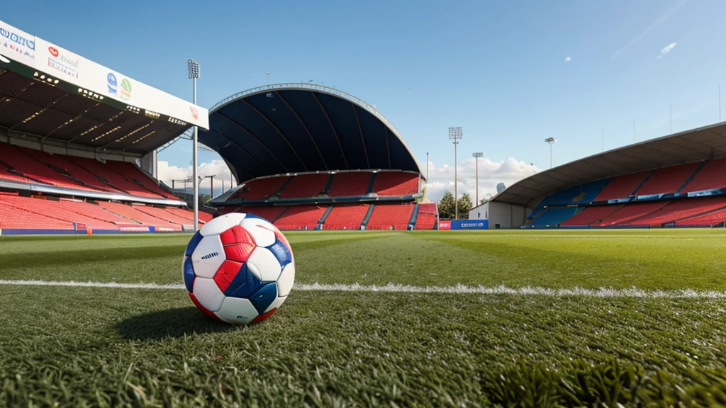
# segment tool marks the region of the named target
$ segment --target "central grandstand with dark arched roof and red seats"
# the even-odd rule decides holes
[[[201,143],[239,185],[211,200],[280,229],[434,229],[420,167],[372,106],[338,89],[281,83],[212,107]]]

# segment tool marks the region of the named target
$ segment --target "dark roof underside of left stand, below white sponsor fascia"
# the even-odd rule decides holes
[[[156,120],[107,102],[0,69],[0,129],[8,136],[144,155],[189,128],[181,121]]]

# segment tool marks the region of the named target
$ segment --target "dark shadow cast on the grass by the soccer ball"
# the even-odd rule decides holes
[[[126,340],[179,338],[185,335],[228,332],[235,328],[233,325],[216,322],[193,306],[130,317],[116,327]]]

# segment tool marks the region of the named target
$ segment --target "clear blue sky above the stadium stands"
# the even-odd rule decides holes
[[[726,1],[37,1],[2,20],[211,107],[270,82],[309,81],[374,104],[422,165],[460,158],[549,167],[718,121]],[[674,46],[671,44],[675,44]],[[671,46],[669,52],[661,50]],[[566,61],[569,57],[570,60]],[[660,57],[660,58],[658,58]],[[203,152],[200,160],[210,161]],[[189,143],[162,152],[188,166]],[[462,165],[463,166],[463,165]],[[442,170],[444,169],[444,170]],[[488,187],[487,187],[488,188]]]

